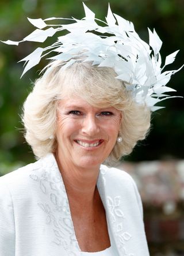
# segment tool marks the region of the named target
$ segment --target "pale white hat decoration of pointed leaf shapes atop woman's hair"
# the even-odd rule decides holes
[[[174,62],[178,51],[168,55],[164,66],[161,67],[159,51],[162,41],[155,29],[151,32],[148,28],[150,40],[147,44],[136,33],[133,23],[113,14],[110,5],[106,22],[95,18],[95,13],[85,3],[83,6],[85,17],[82,20],[55,17],[45,20],[28,18],[36,30],[20,42],[2,41],[18,46],[24,41],[45,42],[55,33],[66,32],[64,36],[58,36],[57,41],[51,46],[39,47],[22,59],[21,61],[25,61],[22,76],[51,52],[53,55],[49,59],[66,62],[63,66],[65,68],[75,62],[75,57],[83,55],[85,61],[92,61],[93,65],[113,67],[117,73],[116,78],[124,81],[127,90],[132,91],[138,103],[147,104],[152,111],[161,108],[155,107],[155,104],[171,97],[165,93],[175,91],[166,86],[167,82],[184,66],[178,70],[162,72],[165,66]],[[47,24],[47,21],[52,20],[70,20],[70,23]],[[103,26],[98,25],[99,23]]]

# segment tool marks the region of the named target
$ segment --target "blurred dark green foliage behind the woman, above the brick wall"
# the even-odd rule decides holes
[[[84,1],[94,10],[98,18],[104,19],[108,10],[106,0]],[[163,41],[162,55],[181,49],[171,69],[177,69],[183,62],[183,0],[112,0],[111,9],[127,20],[132,20],[144,40],[148,40],[147,27],[155,28]],[[82,1],[79,0],[1,0],[0,39],[20,40],[30,32],[30,18],[84,16]],[[16,63],[36,48],[25,43],[19,47],[0,44],[0,175],[17,165],[33,161],[33,154],[23,138],[21,108],[34,81],[37,69],[29,71],[20,80],[22,63]],[[42,68],[43,63],[39,65]],[[171,79],[171,87],[177,89],[173,95],[183,96],[183,71]],[[173,85],[172,85],[173,84]],[[182,158],[184,141],[183,99],[164,102],[165,109],[154,114],[149,137],[133,151],[129,160],[153,160],[167,156]],[[136,129],[136,127],[135,127]]]

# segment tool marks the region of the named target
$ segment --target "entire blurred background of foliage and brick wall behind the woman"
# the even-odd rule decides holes
[[[166,55],[181,50],[167,69],[178,69],[183,64],[183,0],[83,2],[102,20],[110,2],[112,11],[132,21],[147,42],[147,27],[155,28],[163,41],[163,63]],[[71,16],[84,17],[81,0],[1,0],[0,40],[21,40],[31,33],[34,28],[26,17]],[[34,161],[24,140],[21,110],[32,82],[39,77],[37,70],[45,63],[41,61],[20,80],[23,64],[17,62],[38,46],[32,42],[19,47],[0,44],[0,176]],[[173,96],[184,96],[183,70],[171,78],[168,86],[177,90]],[[122,160],[120,168],[128,171],[139,187],[151,256],[184,255],[184,99],[173,98],[160,104],[166,108],[152,115],[150,135]]]

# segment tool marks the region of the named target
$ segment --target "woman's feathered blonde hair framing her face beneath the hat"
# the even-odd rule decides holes
[[[24,103],[22,121],[25,139],[37,158],[55,152],[57,104],[62,97],[76,95],[94,107],[113,106],[122,111],[120,136],[105,164],[112,165],[132,152],[137,141],[143,140],[150,127],[150,110],[137,104],[117,74],[110,67],[93,66],[91,62],[74,62],[64,67],[54,61],[44,75],[36,80],[33,91]]]

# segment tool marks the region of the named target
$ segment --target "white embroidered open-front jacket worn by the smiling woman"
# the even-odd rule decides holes
[[[141,199],[124,171],[101,165],[97,187],[114,256],[148,256]],[[79,256],[55,157],[48,154],[0,178],[1,256]]]

